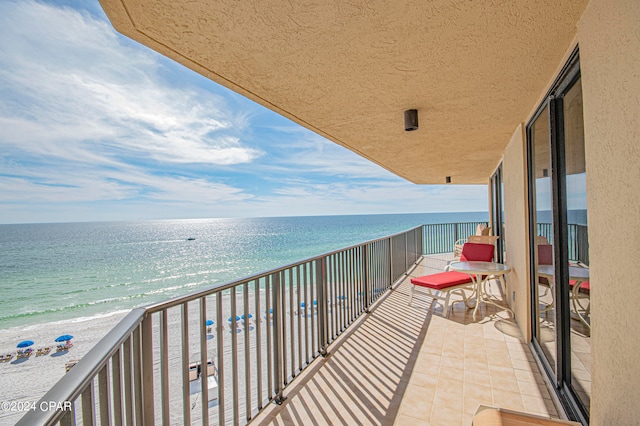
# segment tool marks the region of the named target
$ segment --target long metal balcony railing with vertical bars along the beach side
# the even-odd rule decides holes
[[[18,425],[245,424],[407,273],[425,232],[136,308]]]

